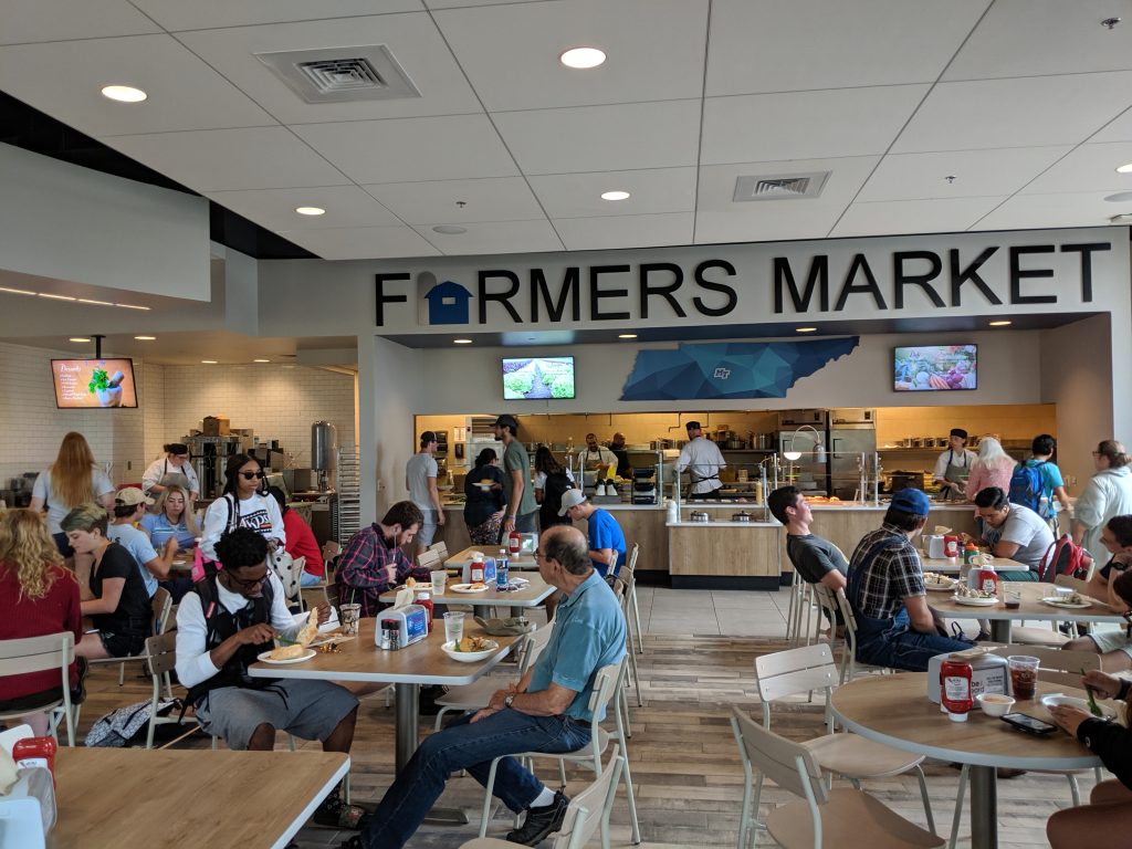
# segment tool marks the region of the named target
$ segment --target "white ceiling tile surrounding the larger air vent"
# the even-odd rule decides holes
[[[178,38],[282,123],[483,111],[436,25],[424,12],[207,29],[181,33]],[[377,44],[388,48],[421,93],[420,97],[307,103],[256,58],[256,53]]]

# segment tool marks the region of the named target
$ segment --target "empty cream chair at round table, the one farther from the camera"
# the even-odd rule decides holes
[[[838,678],[838,668],[833,663],[833,653],[825,643],[788,649],[773,654],[755,658],[755,679],[758,685],[758,696],[763,704],[763,727],[771,727],[771,703],[786,696],[825,691],[825,734],[801,746],[809,752],[817,765],[830,773],[849,779],[854,787],[867,779],[889,778],[915,772],[920,786],[920,797],[924,801],[924,814],[928,829],[935,832],[935,817],[932,815],[932,803],[927,792],[927,779],[924,777],[924,756],[900,752],[890,746],[865,739],[855,734],[834,734],[833,711],[830,696]],[[751,812],[757,818],[758,799],[762,792],[763,775],[754,787],[754,803]],[[751,788],[746,788],[744,798],[749,799]],[[744,823],[749,826],[748,809],[744,808]],[[740,832],[740,846],[743,833]]]

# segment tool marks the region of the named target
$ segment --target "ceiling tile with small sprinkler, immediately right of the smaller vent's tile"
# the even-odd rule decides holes
[[[1071,148],[902,153],[884,157],[865,183],[860,201],[1012,195]],[[954,177],[947,182],[947,177]]]

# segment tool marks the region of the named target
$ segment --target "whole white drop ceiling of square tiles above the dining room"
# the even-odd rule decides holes
[[[420,97],[307,103],[255,55],[372,44]],[[1132,213],[1132,0],[0,0],[0,89],[326,259]]]

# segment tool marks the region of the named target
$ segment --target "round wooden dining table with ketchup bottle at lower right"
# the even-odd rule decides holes
[[[1038,701],[1043,695],[1086,695],[1044,681],[1038,681],[1037,689],[1036,698],[1015,702],[1011,710],[1049,722],[1049,713]],[[969,764],[972,849],[998,846],[995,767],[1072,771],[1100,766],[1099,757],[1061,729],[1040,737],[1017,731],[977,706],[966,722],[952,722],[938,704],[928,701],[926,672],[858,678],[833,692],[832,709],[841,726],[861,737]]]

